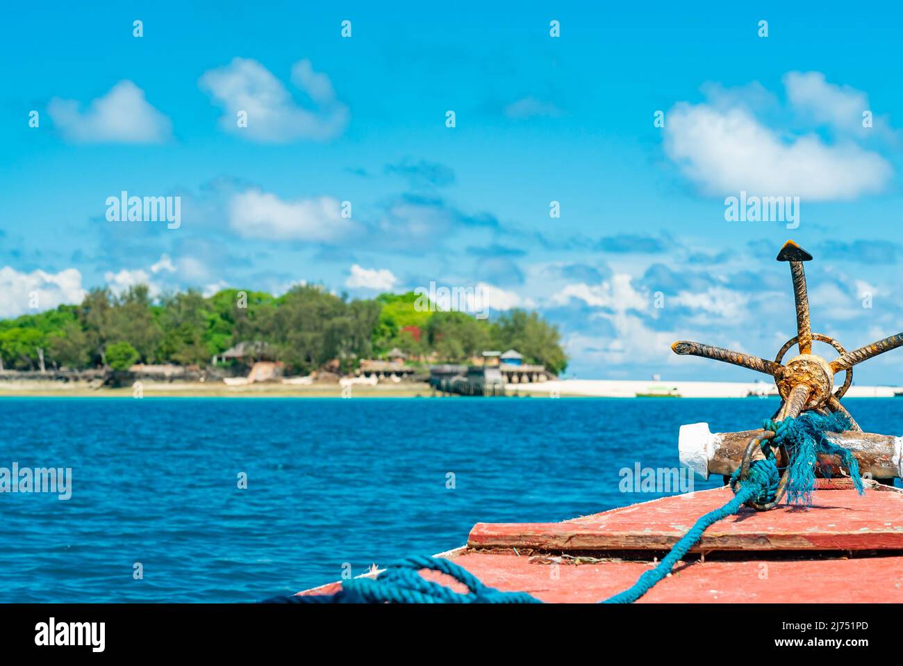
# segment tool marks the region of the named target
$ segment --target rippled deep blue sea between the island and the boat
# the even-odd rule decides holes
[[[903,432],[903,400],[845,402],[866,430]],[[773,399],[0,399],[0,467],[72,468],[68,501],[0,493],[0,589],[5,602],[293,593],[339,579],[345,563],[359,574],[460,546],[478,521],[563,521],[653,499],[619,492],[619,470],[676,466],[683,423],[748,429],[776,408]]]

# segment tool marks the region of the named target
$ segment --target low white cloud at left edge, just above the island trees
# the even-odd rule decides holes
[[[0,268],[0,317],[81,303],[86,294],[81,286],[81,273],[76,268],[59,273],[42,270],[23,273],[8,266]]]

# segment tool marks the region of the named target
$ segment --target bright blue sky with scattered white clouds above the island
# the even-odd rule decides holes
[[[793,238],[815,255],[816,331],[898,333],[898,9],[819,6],[15,6],[0,316],[105,283],[435,281],[540,310],[583,379],[742,380],[669,345],[773,356],[796,334],[774,261]],[[181,226],[107,221],[124,190],[181,197]],[[741,191],[798,196],[798,228],[725,220]]]

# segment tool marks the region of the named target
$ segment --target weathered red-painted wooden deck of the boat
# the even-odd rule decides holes
[[[681,562],[640,601],[903,603],[903,492],[869,483],[859,496],[849,485],[827,490],[832,485],[821,483],[810,509],[744,509],[713,525],[701,546],[708,559]],[[654,552],[670,548],[730,497],[720,488],[560,523],[478,523],[466,547],[443,557],[501,590],[546,602],[597,602],[631,586],[655,566]],[[624,551],[634,557],[618,558]],[[718,558],[720,552],[731,556]],[[449,582],[433,572],[424,576]]]

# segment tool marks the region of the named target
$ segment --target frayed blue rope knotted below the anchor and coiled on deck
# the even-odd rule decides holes
[[[786,418],[783,421],[765,421],[764,428],[775,432],[772,443],[786,446],[790,455],[787,469],[788,503],[812,505],[815,490],[815,463],[819,454],[838,455],[852,477],[856,490],[862,494],[863,486],[859,475],[859,464],[852,453],[828,440],[825,432],[842,432],[850,427],[850,421],[842,414],[820,415],[806,412],[801,417]],[[714,523],[740,511],[747,502],[766,504],[774,502],[780,474],[770,448],[765,448],[766,459],[749,465],[749,476],[738,479],[740,467],[731,476],[731,488],[740,483],[740,489],[730,502],[720,509],[709,511],[695,522],[694,526],[678,539],[671,551],[658,563],[640,576],[636,583],[615,596],[600,602],[602,604],[632,604],[645,595],[653,586],[667,577],[675,564],[692,549],[703,532]],[[426,580],[420,575],[421,569],[438,571],[451,576],[468,588],[461,594],[451,587]],[[443,558],[414,556],[396,562],[375,578],[353,578],[342,583],[334,595],[278,596],[265,603],[289,604],[541,604],[542,601],[526,592],[502,592],[483,585],[467,569]]]

